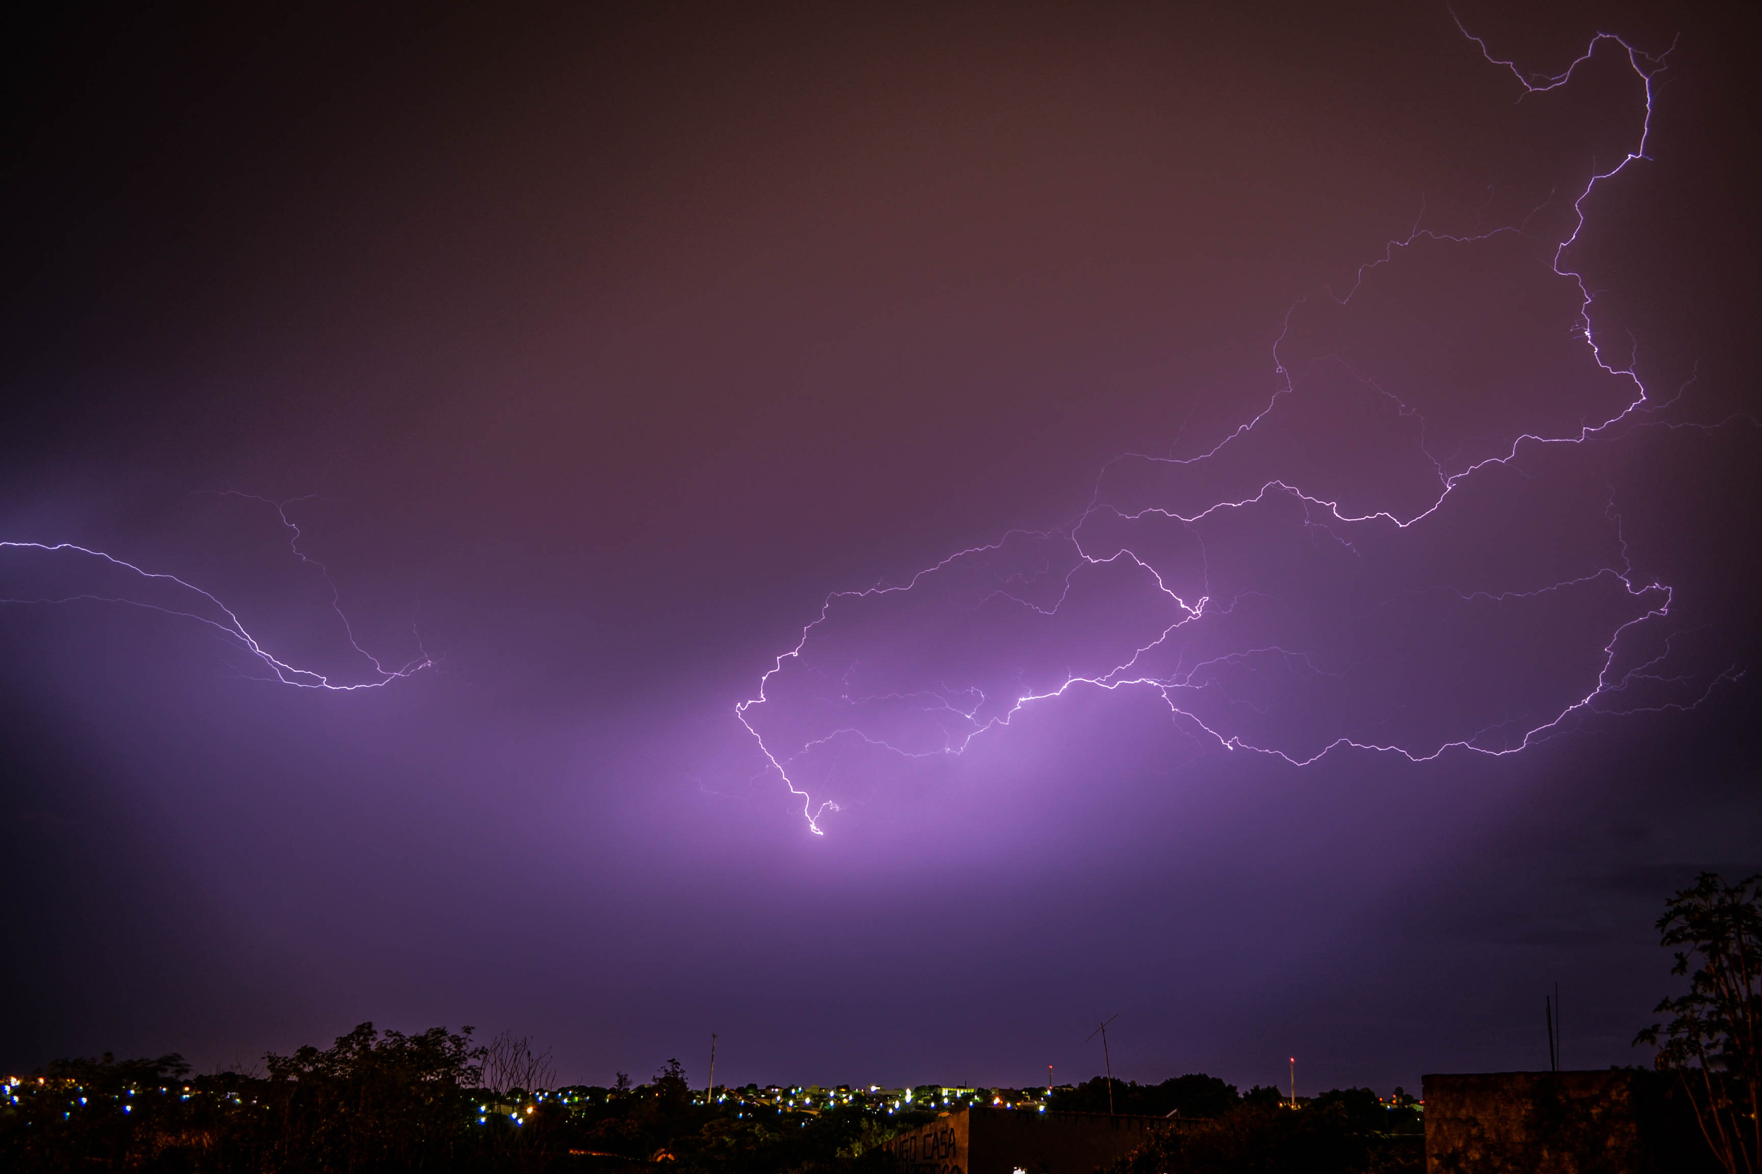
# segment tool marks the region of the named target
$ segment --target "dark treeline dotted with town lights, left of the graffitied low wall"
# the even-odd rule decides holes
[[[370,1023],[324,1051],[268,1056],[266,1075],[190,1075],[180,1056],[63,1060],[5,1090],[0,1169],[835,1170],[879,1128],[860,1109],[705,1105],[677,1063],[641,1086],[529,1091],[486,1088],[492,1060],[469,1028]]]

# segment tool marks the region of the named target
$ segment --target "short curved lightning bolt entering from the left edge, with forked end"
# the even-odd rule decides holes
[[[301,539],[300,526],[294,525],[294,521],[289,519],[287,516],[289,505],[294,505],[296,502],[312,500],[310,496],[289,498],[285,502],[271,502],[270,498],[263,498],[252,493],[238,493],[231,489],[217,496],[234,496],[250,502],[261,502],[275,510],[275,516],[280,521],[282,528],[287,530],[289,535],[287,544],[294,558],[298,558],[301,563],[308,567],[314,567],[324,577],[326,586],[329,586],[331,609],[342,621],[344,635],[349,641],[349,648],[359,653],[372,665],[368,679],[335,681],[331,679],[331,676],[324,672],[292,665],[287,660],[282,660],[280,657],[271,653],[268,648],[264,648],[264,644],[255,635],[252,635],[248,628],[245,628],[245,623],[240,620],[238,613],[222,604],[210,591],[204,591],[203,588],[178,576],[157,570],[146,570],[136,563],[130,563],[123,558],[116,558],[115,554],[109,554],[106,551],[78,546],[74,542],[9,540],[9,542],[0,542],[0,551],[21,551],[26,554],[44,554],[49,556],[51,560],[70,558],[83,563],[95,563],[99,570],[123,572],[125,581],[136,583],[143,588],[141,591],[143,595],[148,590],[169,588],[173,600],[185,600],[185,602],[153,602],[152,598],[141,598],[139,595],[123,595],[107,591],[76,591],[76,593],[49,593],[37,597],[0,598],[0,604],[79,604],[79,602],[118,604],[125,607],[141,607],[144,611],[157,611],[167,616],[176,616],[180,620],[192,620],[213,632],[218,632],[229,642],[240,646],[245,653],[248,653],[250,658],[255,660],[259,665],[263,665],[263,669],[266,671],[266,676],[263,679],[278,681],[280,685],[292,685],[294,688],[314,688],[335,693],[352,693],[368,688],[384,688],[393,681],[402,681],[409,676],[421,672],[423,669],[432,669],[435,665],[433,657],[430,657],[428,651],[423,648],[421,632],[416,630],[414,623],[411,625],[411,628],[416,634],[418,655],[416,658],[402,665],[384,664],[379,657],[361,648],[359,641],[356,641],[354,625],[349,621],[349,616],[342,609],[342,591],[331,579],[329,569],[300,549],[300,539]]]

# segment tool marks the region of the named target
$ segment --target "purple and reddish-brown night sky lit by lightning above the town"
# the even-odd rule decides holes
[[[1649,1061],[1753,9],[243,7],[0,37],[0,1070]]]

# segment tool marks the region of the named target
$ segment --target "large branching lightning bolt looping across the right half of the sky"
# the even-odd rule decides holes
[[[1256,642],[1251,648],[1218,651],[1216,655],[1196,655],[1191,660],[1188,648],[1177,649],[1175,644],[1179,639],[1196,630],[1203,621],[1228,623],[1232,618],[1253,620],[1249,613],[1256,607],[1265,607],[1269,600],[1265,593],[1255,590],[1235,590],[1228,595],[1228,598],[1214,597],[1210,584],[1210,558],[1205,549],[1205,535],[1200,530],[1202,523],[1216,521],[1225,516],[1240,516],[1247,510],[1270,510],[1277,509],[1279,503],[1284,503],[1286,507],[1293,507],[1300,512],[1302,526],[1309,533],[1332,540],[1351,558],[1360,558],[1360,546],[1364,544],[1387,546],[1392,537],[1418,532],[1425,526],[1438,526],[1440,514],[1445,510],[1447,502],[1462,493],[1470,484],[1485,482],[1489,477],[1496,475],[1498,470],[1515,470],[1521,473],[1522,461],[1533,459],[1552,449],[1588,445],[1595,438],[1609,438],[1623,429],[1633,428],[1723,426],[1676,424],[1658,419],[1658,414],[1663,408],[1674,405],[1683,396],[1688,384],[1677,387],[1669,398],[1655,400],[1637,371],[1637,359],[1633,356],[1630,356],[1626,363],[1612,359],[1593,329],[1591,308],[1595,296],[1591,287],[1586,282],[1586,276],[1568,264],[1568,253],[1579,241],[1586,225],[1586,201],[1598,190],[1598,187],[1610,183],[1628,167],[1647,158],[1647,144],[1653,130],[1655,79],[1660,72],[1663,72],[1667,58],[1676,46],[1672,44],[1672,49],[1667,49],[1665,53],[1649,55],[1614,33],[1600,32],[1589,40],[1584,53],[1559,74],[1526,74],[1514,62],[1496,58],[1485,40],[1470,33],[1454,11],[1452,19],[1455,19],[1457,30],[1462,37],[1473,42],[1491,65],[1505,69],[1515,77],[1521,86],[1519,100],[1570,84],[1573,76],[1598,53],[1619,53],[1625,58],[1633,79],[1644,92],[1644,116],[1640,118],[1637,141],[1621,155],[1618,162],[1614,162],[1614,165],[1602,169],[1593,167],[1591,176],[1572,199],[1568,231],[1565,236],[1552,241],[1554,248],[1549,262],[1556,278],[1572,282],[1577,289],[1579,310],[1573,336],[1589,350],[1596,368],[1600,368],[1605,377],[1614,380],[1616,385],[1626,389],[1625,401],[1619,403],[1618,410],[1607,414],[1600,421],[1581,422],[1575,429],[1558,435],[1544,435],[1540,431],[1522,433],[1492,456],[1471,461],[1466,468],[1459,468],[1457,472],[1448,472],[1447,461],[1433,456],[1425,449],[1424,417],[1415,408],[1403,403],[1397,396],[1381,391],[1357,371],[1348,371],[1360,385],[1369,385],[1376,391],[1376,394],[1383,396],[1399,419],[1411,421],[1420,428],[1418,451],[1429,463],[1431,475],[1434,477],[1434,493],[1429,500],[1406,510],[1351,509],[1343,502],[1341,495],[1306,489],[1302,481],[1295,477],[1267,479],[1251,493],[1210,500],[1188,510],[1170,509],[1165,505],[1122,509],[1105,500],[1105,486],[1128,466],[1133,470],[1189,470],[1209,466],[1240,449],[1251,437],[1269,426],[1269,421],[1274,417],[1276,410],[1281,408],[1281,403],[1293,400],[1299,394],[1295,377],[1283,352],[1292,336],[1293,315],[1309,301],[1300,297],[1288,308],[1283,327],[1272,345],[1272,366],[1279,378],[1277,389],[1270,394],[1260,412],[1240,422],[1205,452],[1181,459],[1172,454],[1122,454],[1103,468],[1096,481],[1089,505],[1064,526],[1045,532],[1015,530],[1003,535],[996,542],[957,551],[916,572],[906,583],[877,584],[865,590],[832,591],[823,598],[819,614],[803,625],[795,646],[779,653],[772,665],[759,676],[758,692],[735,706],[735,716],[752,736],[763,757],[761,773],[774,773],[782,780],[789,794],[795,799],[800,799],[802,815],[814,834],[825,834],[821,829],[821,818],[826,811],[837,811],[839,806],[832,801],[819,801],[816,804],[803,780],[793,773],[796,769],[796,762],[803,755],[828,746],[833,741],[874,746],[902,759],[960,755],[981,734],[999,727],[1008,727],[1024,709],[1038,702],[1062,697],[1077,686],[1110,692],[1124,688],[1152,690],[1166,702],[1170,716],[1177,722],[1177,727],[1202,745],[1218,746],[1228,752],[1270,755],[1292,766],[1307,766],[1323,755],[1334,753],[1336,750],[1401,755],[1411,762],[1431,762],[1452,752],[1491,757],[1514,755],[1563,730],[1582,715],[1686,709],[1700,704],[1700,701],[1718,688],[1720,683],[1732,681],[1741,676],[1741,669],[1737,665],[1729,665],[1720,672],[1713,672],[1711,676],[1702,674],[1699,678],[1695,674],[1669,671],[1667,662],[1677,649],[1677,632],[1669,634],[1660,646],[1649,649],[1655,651],[1655,655],[1647,657],[1644,651],[1635,653],[1628,649],[1639,632],[1670,616],[1674,588],[1635,574],[1628,556],[1626,533],[1619,510],[1616,509],[1614,493],[1610,491],[1605,500],[1603,514],[1614,530],[1616,542],[1619,544],[1619,560],[1616,565],[1598,567],[1589,574],[1563,579],[1556,584],[1529,591],[1457,591],[1454,588],[1438,586],[1410,588],[1381,600],[1367,613],[1374,614],[1380,609],[1397,607],[1411,602],[1417,595],[1427,593],[1454,597],[1457,604],[1470,609],[1499,609],[1507,605],[1524,605],[1526,602],[1547,602],[1551,597],[1565,597],[1572,591],[1589,591],[1600,593],[1600,598],[1610,598],[1614,604],[1621,604],[1630,609],[1633,614],[1609,632],[1607,642],[1603,642],[1600,657],[1596,658],[1598,664],[1595,664],[1595,679],[1589,688],[1584,693],[1572,697],[1563,708],[1554,711],[1551,716],[1545,716],[1545,720],[1526,720],[1517,723],[1514,723],[1514,720],[1501,720],[1464,736],[1443,737],[1436,745],[1429,746],[1403,745],[1401,739],[1366,737],[1346,732],[1325,739],[1322,745],[1307,752],[1288,752],[1269,745],[1267,741],[1251,739],[1242,732],[1232,732],[1221,718],[1203,718],[1200,713],[1203,706],[1196,702],[1205,695],[1216,693],[1223,678],[1232,671],[1283,672],[1292,679],[1300,681],[1316,678],[1344,679],[1346,674],[1353,671],[1350,665],[1341,672],[1323,671],[1318,667],[1318,662],[1309,651],[1300,648],[1284,648],[1279,641]],[[1531,213],[1531,218],[1533,216],[1535,213]],[[1424,209],[1420,213],[1420,220],[1422,218]],[[1477,241],[1491,241],[1499,236],[1522,236],[1529,224],[1529,218],[1526,218],[1521,225],[1459,236],[1425,229],[1420,220],[1415,220],[1406,236],[1390,239],[1380,257],[1360,264],[1348,289],[1343,292],[1325,289],[1325,297],[1336,306],[1346,306],[1353,301],[1373,271],[1397,264],[1403,255],[1410,253],[1422,243],[1438,246],[1464,246]],[[1344,363],[1337,357],[1334,363],[1344,366]],[[1693,380],[1690,380],[1690,384],[1692,382]],[[1732,421],[1729,419],[1725,422]],[[1755,421],[1748,422],[1755,424]],[[1198,546],[1200,561],[1203,565],[1202,583],[1196,586],[1170,583],[1165,570],[1159,569],[1158,558],[1152,554],[1135,553],[1124,542],[1115,544],[1117,549],[1105,546],[1105,528],[1122,525],[1154,525],[1165,526],[1170,532],[1184,533],[1188,540]],[[1091,532],[1099,532],[1103,537],[1092,539]],[[832,697],[832,702],[846,709],[876,706],[906,708],[914,715],[929,718],[936,730],[939,730],[939,737],[932,739],[930,745],[923,745],[922,739],[914,745],[902,745],[892,737],[869,732],[860,725],[848,723],[837,725],[821,736],[789,743],[789,750],[782,748],[775,734],[766,736],[763,729],[765,722],[761,718],[766,716],[768,706],[784,704],[774,697],[774,690],[781,685],[782,674],[795,667],[802,667],[805,672],[818,672],[816,669],[807,667],[805,657],[811,642],[816,637],[825,637],[828,625],[835,620],[835,613],[844,614],[858,605],[883,607],[890,602],[897,602],[900,597],[929,590],[932,581],[959,576],[967,567],[976,563],[992,561],[999,567],[1006,567],[1011,560],[1025,558],[1027,553],[1036,553],[1040,560],[1033,570],[1004,576],[1004,581],[994,590],[967,598],[964,609],[976,614],[981,607],[1003,604],[1017,605],[1024,609],[1024,613],[1038,616],[1054,616],[1070,605],[1073,577],[1078,570],[1108,567],[1115,570],[1129,570],[1135,576],[1145,577],[1168,613],[1166,623],[1161,623],[1158,630],[1151,632],[1149,639],[1133,644],[1129,655],[1115,660],[1112,667],[1101,672],[1066,672],[1062,679],[1050,686],[1017,690],[1003,697],[997,706],[990,706],[990,699],[985,690],[976,685],[950,686],[944,681],[916,690],[906,688],[853,695],[853,667],[842,676],[842,692]],[[1055,565],[1059,560],[1066,563],[1062,576]],[[1048,591],[1047,583],[1057,584],[1061,577],[1062,586],[1057,591]],[[955,588],[948,588],[948,597],[955,598]],[[1159,658],[1166,658],[1168,655],[1175,655],[1173,665],[1156,664]],[[1676,686],[1679,692],[1669,699],[1651,697],[1633,701],[1633,695],[1646,686]],[[1269,715],[1272,708],[1272,704],[1255,706],[1246,701],[1226,706],[1232,713],[1246,709],[1260,715]]]

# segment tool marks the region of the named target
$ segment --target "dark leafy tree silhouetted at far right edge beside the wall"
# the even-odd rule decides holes
[[[1702,873],[1658,919],[1670,973],[1688,993],[1655,1009],[1672,1016],[1639,1033],[1658,1067],[1683,1079],[1700,1132],[1729,1174],[1762,1170],[1762,875],[1727,885]],[[1660,1038],[1663,1040],[1660,1044]]]

